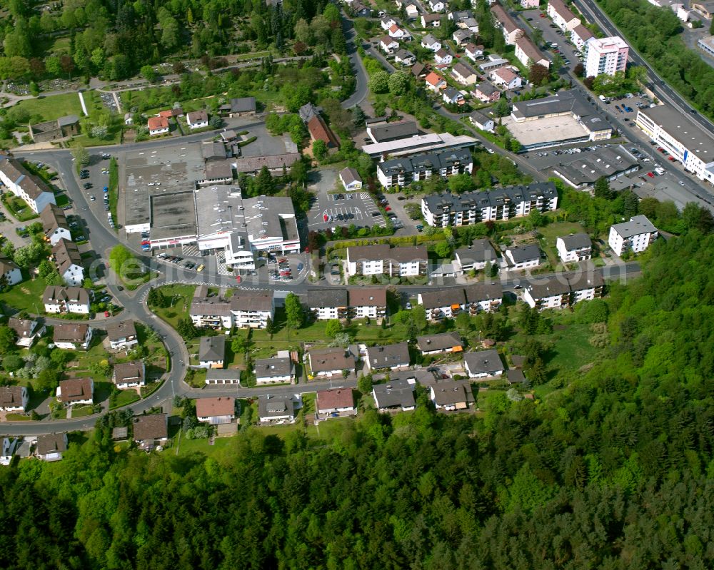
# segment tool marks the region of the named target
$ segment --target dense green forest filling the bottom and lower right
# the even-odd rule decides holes
[[[331,442],[250,428],[213,457],[98,429],[0,471],[0,566],[711,568],[714,236],[650,250],[610,288],[602,359],[542,401],[445,417],[422,398]]]

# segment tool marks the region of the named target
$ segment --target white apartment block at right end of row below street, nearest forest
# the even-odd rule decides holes
[[[603,296],[604,281],[599,273],[580,273],[570,277],[560,275],[538,281],[537,284],[526,285],[523,291],[523,300],[538,310],[570,307],[576,302]]]

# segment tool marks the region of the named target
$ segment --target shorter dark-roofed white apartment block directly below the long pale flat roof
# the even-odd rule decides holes
[[[446,178],[473,170],[471,153],[466,149],[452,149],[438,153],[404,158],[393,158],[377,165],[377,178],[385,188],[406,186],[433,176]]]

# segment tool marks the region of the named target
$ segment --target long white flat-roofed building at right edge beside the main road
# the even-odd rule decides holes
[[[641,128],[685,170],[714,184],[714,136],[670,106],[640,109],[635,125]]]

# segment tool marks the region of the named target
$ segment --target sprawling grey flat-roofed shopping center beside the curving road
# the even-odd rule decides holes
[[[152,248],[196,244],[201,253],[223,251],[226,263],[253,267],[253,253],[297,253],[300,237],[290,198],[246,198],[234,183],[241,158],[204,158],[205,146],[186,143],[124,156],[126,233],[150,232]],[[286,155],[282,155],[286,156]],[[289,164],[286,165],[289,168]]]

